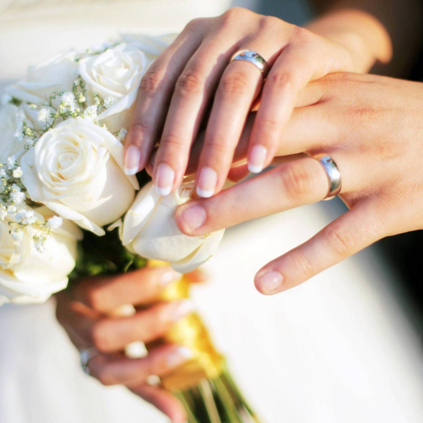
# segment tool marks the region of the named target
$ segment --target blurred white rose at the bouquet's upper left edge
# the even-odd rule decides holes
[[[39,104],[53,91],[72,91],[78,75],[75,57],[75,52],[68,52],[31,67],[25,79],[6,88],[6,93],[23,102]],[[59,98],[56,103],[60,103]]]

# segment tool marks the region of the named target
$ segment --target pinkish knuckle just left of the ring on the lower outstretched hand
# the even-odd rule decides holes
[[[290,200],[297,200],[313,190],[313,177],[304,165],[292,163],[283,166],[279,176],[282,190]]]

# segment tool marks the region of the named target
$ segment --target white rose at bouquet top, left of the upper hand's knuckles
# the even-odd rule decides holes
[[[79,73],[85,81],[88,103],[93,104],[94,93],[105,100],[107,109],[99,114],[98,121],[110,132],[131,123],[138,86],[150,63],[142,51],[125,43],[80,60]]]

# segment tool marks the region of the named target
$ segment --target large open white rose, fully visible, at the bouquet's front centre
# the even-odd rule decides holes
[[[82,118],[45,132],[20,166],[33,201],[97,235],[126,212],[139,188],[137,179],[124,173],[122,144]]]

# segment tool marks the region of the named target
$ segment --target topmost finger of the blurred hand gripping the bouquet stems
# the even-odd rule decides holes
[[[146,267],[119,275],[89,277],[74,288],[74,296],[88,307],[107,313],[123,304],[148,304],[181,276],[171,267]]]

